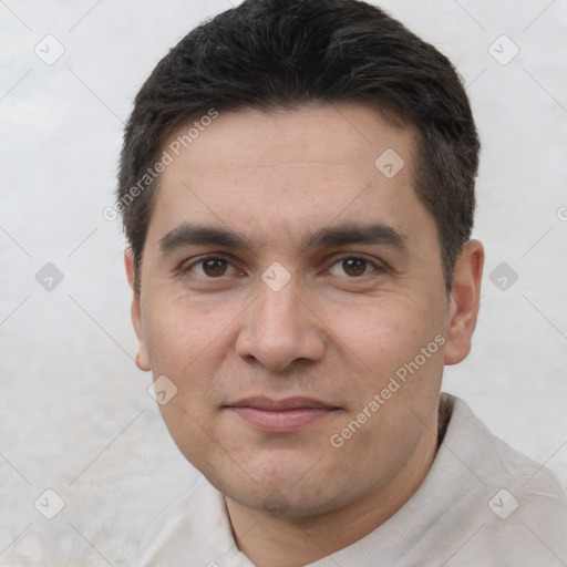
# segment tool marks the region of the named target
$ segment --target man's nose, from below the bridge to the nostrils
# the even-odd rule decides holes
[[[300,292],[293,278],[279,291],[259,282],[257,299],[243,313],[236,341],[240,358],[271,371],[284,371],[296,361],[317,362],[323,358],[328,333]]]

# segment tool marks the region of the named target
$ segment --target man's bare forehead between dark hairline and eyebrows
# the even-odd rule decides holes
[[[206,221],[281,244],[333,223],[380,221],[406,233],[429,216],[413,190],[412,130],[365,105],[221,112],[184,138],[193,124],[162,148],[172,163],[148,240]]]

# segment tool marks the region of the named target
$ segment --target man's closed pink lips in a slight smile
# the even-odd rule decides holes
[[[223,409],[254,429],[269,433],[290,433],[332,415],[340,408],[309,398],[247,398]]]

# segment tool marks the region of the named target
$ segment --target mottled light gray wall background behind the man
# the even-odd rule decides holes
[[[380,6],[454,61],[484,144],[481,317],[472,354],[447,369],[444,389],[565,484],[567,1]],[[194,482],[146,392],[151,375],[134,365],[124,239],[102,210],[142,81],[229,7],[0,0],[2,566],[130,565],[151,519]],[[55,53],[47,34],[65,50],[52,65],[34,53]],[[519,48],[505,65],[488,51],[502,34]],[[513,45],[492,49],[502,61]],[[52,291],[35,280],[47,262],[64,275]],[[518,275],[506,290],[489,279],[501,262]],[[65,502],[51,520],[33,505],[47,488]]]

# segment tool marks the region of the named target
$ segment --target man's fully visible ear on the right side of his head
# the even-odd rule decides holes
[[[483,245],[478,240],[468,240],[453,274],[445,364],[457,364],[471,351],[471,338],[478,317],[483,266]]]

